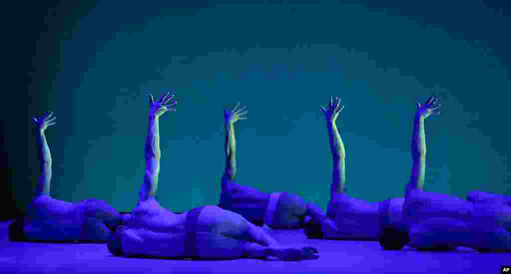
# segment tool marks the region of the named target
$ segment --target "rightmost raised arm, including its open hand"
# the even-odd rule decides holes
[[[438,98],[430,97],[426,103],[416,102],[417,110],[413,118],[412,134],[412,172],[410,181],[406,186],[406,195],[413,190],[422,190],[426,176],[426,132],[424,130],[424,120],[431,115],[439,115]]]

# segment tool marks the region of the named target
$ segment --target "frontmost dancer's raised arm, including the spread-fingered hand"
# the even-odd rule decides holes
[[[166,93],[158,101],[154,101],[152,95],[149,95],[149,127],[147,130],[145,158],[146,158],[146,171],[144,174],[144,184],[140,190],[140,201],[154,198],[156,189],[158,188],[158,173],[159,173],[159,117],[167,111],[176,111],[174,106],[177,104],[172,100],[174,95]]]

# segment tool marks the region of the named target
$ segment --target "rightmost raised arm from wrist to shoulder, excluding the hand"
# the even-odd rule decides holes
[[[406,193],[412,189],[423,189],[426,176],[426,133],[424,118],[415,115],[412,134],[412,172]]]

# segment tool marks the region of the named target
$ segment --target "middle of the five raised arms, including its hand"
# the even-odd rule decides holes
[[[222,177],[222,188],[227,181],[234,180],[236,177],[236,136],[234,124],[239,120],[246,120],[247,114],[245,107],[238,103],[232,110],[224,110],[225,122],[225,171]]]

